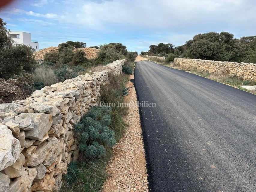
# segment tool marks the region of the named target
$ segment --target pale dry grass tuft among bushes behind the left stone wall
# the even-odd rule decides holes
[[[52,84],[59,82],[53,69],[47,66],[37,67],[33,75],[35,77],[35,80],[43,82],[44,86],[51,86]]]

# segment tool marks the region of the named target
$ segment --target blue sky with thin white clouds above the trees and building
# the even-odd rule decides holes
[[[140,52],[211,31],[256,35],[255,10],[254,0],[16,0],[0,17],[8,29],[31,33],[40,49],[66,41],[121,42]]]

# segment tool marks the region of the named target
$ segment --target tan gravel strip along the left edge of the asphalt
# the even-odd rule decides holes
[[[134,80],[134,75],[130,75],[130,79]],[[130,93],[125,97],[125,102],[137,103],[136,91],[131,80],[127,84]],[[124,121],[128,129],[113,149],[114,155],[106,167],[107,173],[111,176],[103,184],[101,191],[147,192],[148,175],[138,106],[129,107]]]

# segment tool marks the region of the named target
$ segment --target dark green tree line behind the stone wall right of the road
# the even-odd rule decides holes
[[[181,46],[159,43],[150,45],[149,48],[148,52],[142,51],[141,55],[165,56],[170,61],[175,57],[183,57],[256,63],[256,36],[236,39],[229,32],[198,34]]]

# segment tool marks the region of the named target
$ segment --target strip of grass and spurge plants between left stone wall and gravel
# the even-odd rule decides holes
[[[109,81],[101,87],[103,107],[93,107],[74,125],[80,141],[80,158],[68,165],[68,173],[62,185],[62,192],[99,191],[109,176],[105,166],[109,163],[112,148],[124,135],[126,126],[123,116],[127,107],[118,107],[124,101],[123,89],[128,75],[109,74]],[[115,107],[107,106],[115,103]]]

